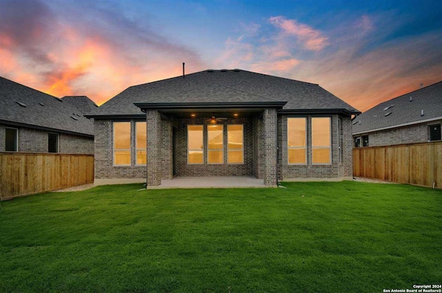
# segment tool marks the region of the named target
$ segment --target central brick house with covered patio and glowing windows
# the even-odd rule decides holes
[[[318,84],[239,69],[131,86],[86,115],[95,122],[95,184],[350,179],[358,113]]]

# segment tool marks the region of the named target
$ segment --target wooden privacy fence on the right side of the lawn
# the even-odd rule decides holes
[[[442,142],[353,149],[353,175],[442,188]]]

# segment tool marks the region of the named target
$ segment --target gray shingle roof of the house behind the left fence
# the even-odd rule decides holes
[[[0,123],[93,135],[93,121],[63,100],[0,77]]]

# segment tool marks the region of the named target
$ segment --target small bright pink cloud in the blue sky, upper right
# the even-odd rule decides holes
[[[322,50],[329,45],[328,38],[323,37],[320,31],[314,30],[306,24],[298,23],[296,19],[286,19],[282,16],[270,17],[269,23],[282,30],[282,37],[297,37],[300,44],[307,50]]]

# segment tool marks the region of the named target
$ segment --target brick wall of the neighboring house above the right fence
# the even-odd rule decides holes
[[[371,133],[362,133],[353,135],[359,137],[368,135],[369,147],[388,146],[393,144],[414,144],[419,142],[428,142],[428,125],[438,124],[441,121],[427,122],[410,126],[387,129]]]

